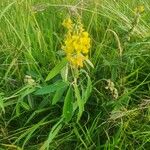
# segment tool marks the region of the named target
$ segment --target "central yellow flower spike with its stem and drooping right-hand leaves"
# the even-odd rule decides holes
[[[80,18],[78,18],[76,22],[72,21],[70,18],[67,18],[63,21],[63,26],[67,29],[67,33],[65,35],[62,49],[66,54],[66,58],[71,68],[70,71],[72,78],[70,79],[73,81],[70,80],[70,87],[74,89],[72,94],[74,94],[74,99],[76,100],[74,103],[75,105],[73,106],[73,111],[78,109],[78,122],[82,116],[84,105],[88,99],[88,94],[91,92],[92,87],[92,82],[86,71],[82,70],[82,73],[84,72],[87,75],[87,87],[85,88],[85,91],[83,90],[83,86],[81,85],[82,83],[79,78],[79,73],[81,73],[81,70],[79,69],[84,66],[84,61],[86,61],[89,65],[92,64],[88,60],[91,39],[88,32],[85,31]],[[66,68],[66,72],[68,74],[68,65],[66,65]],[[67,75],[65,79],[67,80]],[[82,94],[84,93],[83,95],[86,96],[81,95],[80,91],[82,91]]]

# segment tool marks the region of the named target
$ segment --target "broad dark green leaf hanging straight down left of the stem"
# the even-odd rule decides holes
[[[63,117],[65,118],[66,122],[69,122],[72,118],[72,115],[73,115],[73,91],[70,86],[64,101]]]

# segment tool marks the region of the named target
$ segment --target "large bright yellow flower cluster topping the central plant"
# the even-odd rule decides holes
[[[67,28],[67,34],[62,49],[72,67],[83,67],[83,62],[88,59],[89,34],[84,30],[80,19],[77,23],[74,23],[70,18],[65,19],[63,26]]]

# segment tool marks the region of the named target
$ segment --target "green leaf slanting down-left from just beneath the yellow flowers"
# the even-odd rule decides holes
[[[60,63],[58,63],[48,74],[46,77],[46,81],[51,80],[53,77],[55,77],[57,74],[61,72],[61,69],[67,64],[67,60],[64,58]]]

